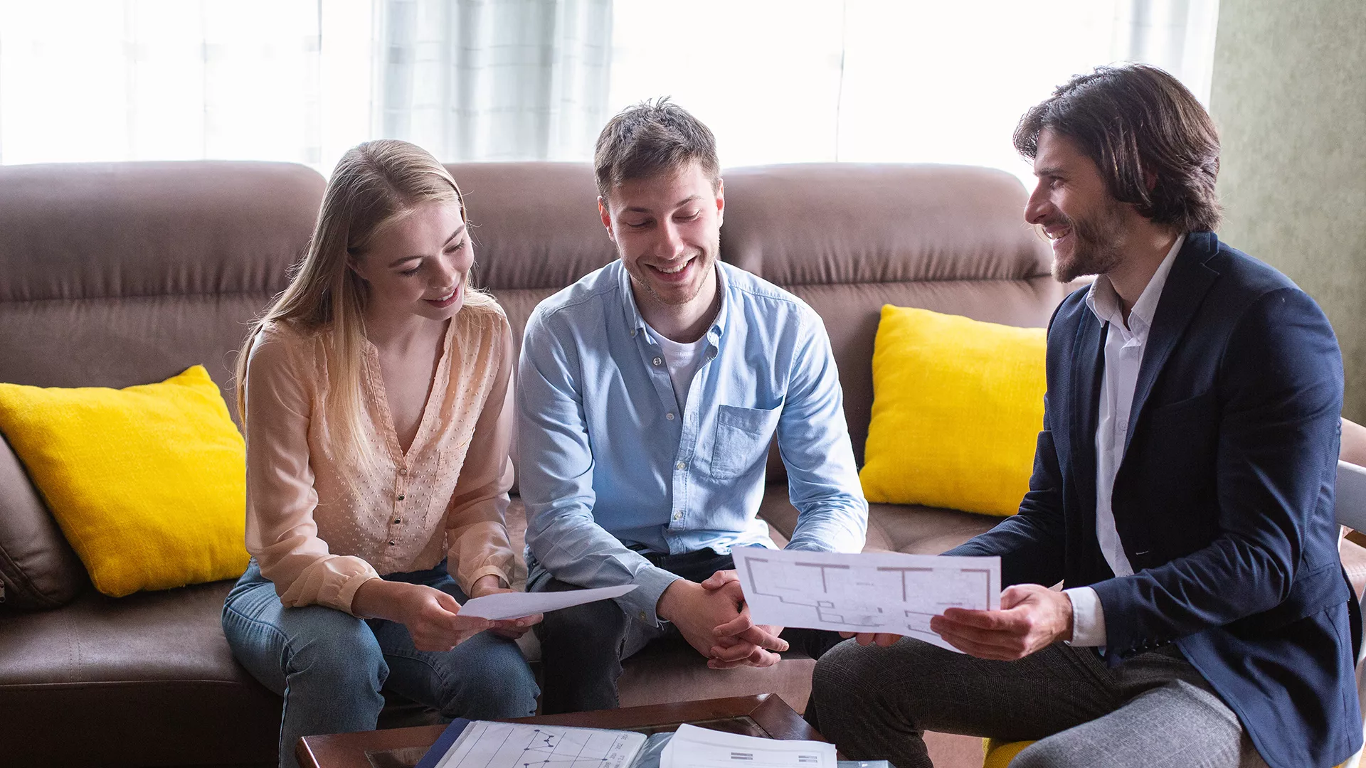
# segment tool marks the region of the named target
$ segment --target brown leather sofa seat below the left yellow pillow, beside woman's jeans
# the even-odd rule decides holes
[[[15,765],[273,761],[280,698],[232,660],[232,582],[0,620],[0,743]]]

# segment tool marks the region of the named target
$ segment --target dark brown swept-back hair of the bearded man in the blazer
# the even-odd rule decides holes
[[[1100,168],[1112,197],[1183,232],[1218,227],[1218,131],[1172,75],[1147,64],[1076,75],[1020,118],[1015,149],[1033,160],[1044,128]],[[1156,179],[1147,189],[1147,175]]]

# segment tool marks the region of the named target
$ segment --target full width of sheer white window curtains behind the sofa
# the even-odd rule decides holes
[[[328,172],[398,137],[443,160],[586,160],[672,94],[728,165],[1029,175],[1019,115],[1143,60],[1209,93],[1217,0],[0,0],[0,163],[254,159]]]

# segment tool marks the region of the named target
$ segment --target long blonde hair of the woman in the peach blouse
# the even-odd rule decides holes
[[[251,325],[238,355],[238,415],[246,425],[247,361],[257,333],[268,324],[302,332],[331,331],[324,407],[333,455],[362,469],[376,462],[366,439],[365,280],[348,266],[363,258],[377,232],[426,202],[456,202],[466,223],[464,198],[449,171],[425,149],[396,139],[367,141],[347,150],[332,172],[313,239],[294,269],[290,287]],[[464,282],[466,307],[489,307],[493,298]],[[463,309],[462,309],[463,312]],[[346,473],[350,476],[350,473]]]

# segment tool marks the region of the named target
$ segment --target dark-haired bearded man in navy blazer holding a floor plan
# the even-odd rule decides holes
[[[897,768],[930,765],[926,728],[1041,739],[1012,768],[1337,764],[1362,745],[1361,615],[1328,320],[1212,232],[1218,138],[1167,72],[1074,78],[1015,146],[1055,276],[1098,277],[1049,325],[1019,514],[947,552],[999,555],[1012,586],[1000,611],[932,620],[966,653],[885,635],[828,653],[818,727]]]

